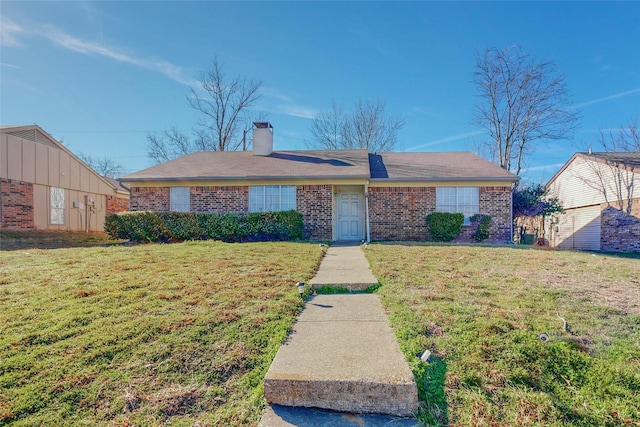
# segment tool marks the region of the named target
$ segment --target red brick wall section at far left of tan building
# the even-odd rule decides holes
[[[33,184],[0,179],[0,226],[7,229],[34,229]]]

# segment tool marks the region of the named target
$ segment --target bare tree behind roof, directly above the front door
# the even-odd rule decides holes
[[[315,117],[309,131],[310,147],[325,150],[364,149],[369,152],[393,151],[398,131],[404,120],[387,117],[386,104],[381,99],[359,100],[353,113],[346,113],[335,101],[331,109]]]

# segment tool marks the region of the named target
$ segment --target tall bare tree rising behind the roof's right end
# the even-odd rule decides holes
[[[557,66],[517,47],[476,54],[473,83],[480,98],[474,123],[491,136],[491,160],[510,172],[520,173],[536,143],[568,138],[577,126]]]

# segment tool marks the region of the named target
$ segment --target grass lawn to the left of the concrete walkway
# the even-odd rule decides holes
[[[317,245],[86,238],[3,234],[0,425],[255,425]]]

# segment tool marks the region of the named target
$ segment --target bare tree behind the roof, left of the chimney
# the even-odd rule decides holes
[[[249,109],[260,98],[262,82],[243,76],[228,77],[214,58],[200,76],[200,87],[191,88],[187,101],[200,113],[193,139],[175,127],[147,134],[147,154],[165,162],[195,151],[234,151],[243,147],[242,132],[249,127]]]

